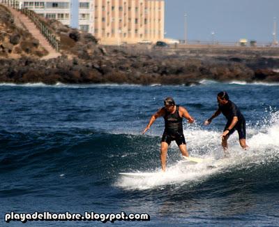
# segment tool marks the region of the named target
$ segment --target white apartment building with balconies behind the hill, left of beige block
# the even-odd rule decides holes
[[[71,0],[21,0],[20,3],[22,7],[29,8],[43,17],[59,20],[61,23],[69,26],[70,21],[74,16],[73,13],[77,13],[79,28],[93,34],[94,0],[80,0],[78,2],[79,8],[75,12],[71,10]]]

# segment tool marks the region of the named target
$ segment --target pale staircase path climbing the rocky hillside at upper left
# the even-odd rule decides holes
[[[10,8],[10,13],[13,14],[15,17],[15,20],[17,22],[20,22],[24,25],[24,27],[29,31],[29,33],[36,38],[40,45],[42,45],[49,54],[47,54],[45,57],[42,57],[42,59],[52,59],[61,56],[59,52],[56,52],[56,50],[50,45],[50,43],[47,41],[47,38],[43,36],[43,34],[40,33],[40,30],[36,27],[36,25],[27,17],[27,15],[24,15],[24,13],[21,13],[20,11],[15,10],[14,8]]]

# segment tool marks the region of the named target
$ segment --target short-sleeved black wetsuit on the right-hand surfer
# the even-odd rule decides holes
[[[237,108],[237,106],[232,101],[229,100],[228,103],[225,105],[219,104],[219,110],[227,118],[227,124],[225,126],[224,131],[227,130],[229,125],[232,123],[232,119],[234,117],[238,118],[238,122],[236,123],[234,128],[229,130],[229,133],[227,135],[231,136],[232,133],[234,133],[234,131],[237,131],[239,133],[239,140],[246,139],[246,122],[245,122],[245,118],[241,114],[239,108]]]

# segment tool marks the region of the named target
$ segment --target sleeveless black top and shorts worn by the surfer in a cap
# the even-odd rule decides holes
[[[176,110],[172,114],[167,112],[165,109],[165,115],[163,116],[165,119],[165,131],[162,136],[162,142],[167,142],[168,145],[175,140],[176,144],[182,145],[186,144],[184,135],[183,135],[183,125],[182,125],[182,117],[179,116],[179,105],[176,105]]]

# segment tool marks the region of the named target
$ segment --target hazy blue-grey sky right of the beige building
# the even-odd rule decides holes
[[[184,38],[185,13],[188,40],[271,42],[279,28],[279,0],[165,0],[166,37]]]

